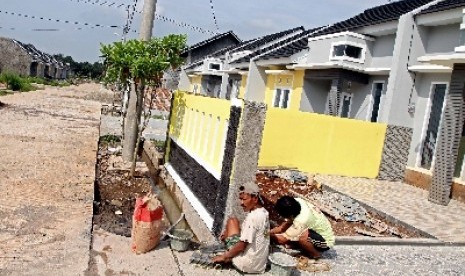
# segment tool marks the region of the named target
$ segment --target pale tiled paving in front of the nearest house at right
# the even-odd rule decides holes
[[[465,243],[465,203],[436,205],[428,201],[427,191],[402,182],[322,175],[315,180],[440,241]]]

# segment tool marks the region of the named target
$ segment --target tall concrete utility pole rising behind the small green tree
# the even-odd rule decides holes
[[[155,20],[157,0],[144,0],[140,40],[148,41],[152,38],[153,21]],[[139,127],[143,109],[144,83],[131,83],[127,116],[125,118],[123,160],[132,162],[131,172],[134,172],[139,145]]]

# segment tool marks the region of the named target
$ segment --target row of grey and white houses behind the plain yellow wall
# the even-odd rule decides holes
[[[249,41],[227,32],[186,50],[178,89],[386,124],[391,169],[447,204],[465,190],[464,8],[403,0]]]

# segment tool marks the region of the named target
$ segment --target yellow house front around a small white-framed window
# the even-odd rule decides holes
[[[274,93],[277,87],[291,88],[291,95],[288,110],[300,110],[304,85],[304,70],[293,71],[292,74],[268,75],[265,89],[265,103],[273,106]]]

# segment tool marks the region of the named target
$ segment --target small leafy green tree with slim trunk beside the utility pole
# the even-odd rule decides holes
[[[163,72],[168,68],[176,68],[182,64],[181,51],[186,47],[185,35],[168,35],[163,38],[152,38],[149,41],[129,40],[102,45],[107,83],[126,83],[136,91],[135,114],[124,115],[124,128],[129,133],[123,137],[123,160],[132,162],[131,174],[134,173],[136,149],[138,147],[141,128],[140,118],[144,106],[145,87],[158,87]],[[123,133],[126,131],[123,129]]]

